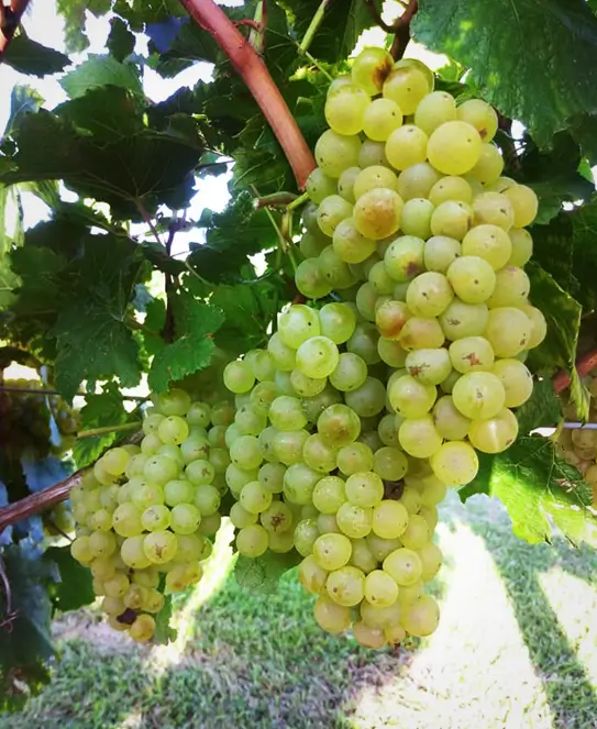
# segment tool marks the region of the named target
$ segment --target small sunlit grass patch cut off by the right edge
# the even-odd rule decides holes
[[[597,688],[597,585],[559,566],[539,575],[539,584],[587,681]]]

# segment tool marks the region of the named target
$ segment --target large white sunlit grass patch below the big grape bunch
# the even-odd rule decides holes
[[[354,726],[552,729],[548,698],[485,541],[458,520],[453,528],[440,524],[438,537],[445,556],[440,627],[395,678],[363,692]]]

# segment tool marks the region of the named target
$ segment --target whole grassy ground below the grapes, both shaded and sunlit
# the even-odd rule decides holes
[[[520,542],[495,501],[455,495],[438,539],[442,621],[409,650],[322,633],[294,574],[243,590],[224,540],[176,643],[66,616],[52,684],[0,729],[596,729],[597,553]]]

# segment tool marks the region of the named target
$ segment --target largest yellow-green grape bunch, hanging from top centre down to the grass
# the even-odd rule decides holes
[[[296,285],[266,350],[224,369],[237,551],[296,550],[314,617],[364,645],[430,634],[436,505],[517,438],[546,333],[523,270],[534,192],[496,112],[379,48],[329,89]],[[330,300],[333,299],[333,300]]]

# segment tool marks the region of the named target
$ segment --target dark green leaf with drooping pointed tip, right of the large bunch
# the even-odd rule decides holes
[[[548,335],[531,351],[531,368],[549,372],[563,368],[570,372],[572,400],[581,420],[586,420],[589,395],[575,367],[583,308],[539,264],[530,262],[526,270],[531,280],[533,306],[543,312],[548,322]]]

